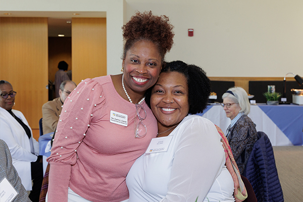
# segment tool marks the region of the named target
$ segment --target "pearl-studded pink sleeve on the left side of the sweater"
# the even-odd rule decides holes
[[[52,147],[48,201],[67,201],[71,166],[89,128],[92,114],[105,103],[102,86],[92,79],[82,81],[65,100]]]

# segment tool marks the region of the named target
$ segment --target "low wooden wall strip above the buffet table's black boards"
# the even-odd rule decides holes
[[[242,87],[247,93],[249,81],[283,81],[284,77],[209,77],[212,81],[234,81],[235,86]],[[295,81],[294,78],[287,77],[286,81]]]

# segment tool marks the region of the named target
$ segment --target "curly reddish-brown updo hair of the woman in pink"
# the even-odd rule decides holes
[[[174,26],[170,24],[165,15],[154,16],[151,11],[137,12],[122,27],[123,39],[126,40],[122,59],[125,59],[126,52],[135,42],[146,40],[157,45],[163,62],[165,54],[170,51],[173,45],[175,35],[172,31],[173,28]]]

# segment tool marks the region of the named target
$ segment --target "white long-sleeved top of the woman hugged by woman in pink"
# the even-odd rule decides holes
[[[188,115],[169,136],[173,137],[167,152],[143,154],[131,167],[126,177],[128,202],[194,202],[197,197],[234,201],[234,184],[215,125]]]

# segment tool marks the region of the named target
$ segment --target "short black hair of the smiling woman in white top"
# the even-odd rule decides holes
[[[182,61],[173,61],[164,64],[161,70],[161,73],[162,72],[179,72],[185,76],[188,84],[188,113],[202,113],[207,107],[211,94],[211,81],[207,77],[206,72],[195,65],[187,65]],[[153,87],[145,92],[145,102],[149,108],[151,89],[153,89]]]

